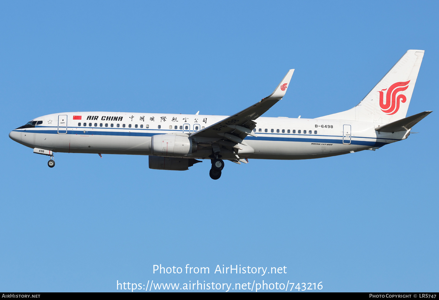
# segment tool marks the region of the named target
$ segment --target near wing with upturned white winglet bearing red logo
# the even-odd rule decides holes
[[[263,113],[268,111],[270,107],[281,100],[287,92],[290,84],[291,76],[294,69],[288,71],[281,83],[274,89],[270,96],[266,96],[258,103],[246,108],[243,111],[233,114],[222,121],[219,121],[205,129],[194,132],[191,137],[201,138],[220,138],[225,139],[226,143],[230,143],[227,140],[232,141],[231,144],[243,143],[242,140],[246,136],[256,136],[252,130],[256,127],[256,123],[253,121],[259,118]],[[245,142],[243,143],[245,144]],[[225,146],[225,145],[224,145]],[[239,149],[239,148],[238,148]]]

